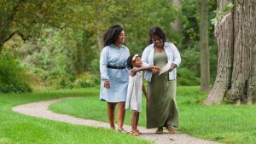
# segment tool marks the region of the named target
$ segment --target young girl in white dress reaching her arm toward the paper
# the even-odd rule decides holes
[[[131,55],[127,59],[127,66],[131,69],[128,91],[126,96],[125,109],[131,109],[131,135],[140,135],[137,130],[137,123],[139,119],[139,112],[142,111],[142,89],[146,96],[147,102],[149,97],[143,85],[143,72],[144,70],[153,70],[154,66],[143,66],[143,62],[139,55]]]

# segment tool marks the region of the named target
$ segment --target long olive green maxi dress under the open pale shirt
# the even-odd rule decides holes
[[[154,52],[154,66],[165,66],[167,55]],[[176,80],[169,81],[168,72],[153,74],[148,82],[149,104],[147,104],[147,128],[165,127],[166,124],[178,126],[176,95]]]

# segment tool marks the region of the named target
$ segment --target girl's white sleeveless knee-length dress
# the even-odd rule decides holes
[[[142,112],[142,89],[143,72],[137,72],[133,77],[130,75],[125,109]]]

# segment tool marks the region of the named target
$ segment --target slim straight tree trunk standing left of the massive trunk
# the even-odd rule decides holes
[[[200,64],[201,91],[209,91],[210,64],[208,49],[208,0],[201,0],[200,15]]]

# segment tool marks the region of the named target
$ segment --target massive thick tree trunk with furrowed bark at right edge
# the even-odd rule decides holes
[[[219,0],[218,10],[234,3],[215,27],[218,74],[205,103],[252,104],[256,101],[256,1]]]

